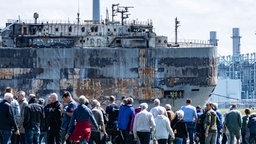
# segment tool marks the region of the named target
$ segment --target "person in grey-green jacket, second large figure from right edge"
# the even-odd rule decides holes
[[[241,112],[237,110],[237,105],[232,104],[230,111],[225,116],[225,124],[229,130],[229,140],[230,144],[234,144],[235,138],[236,143],[240,144],[241,128],[242,128],[242,115]]]

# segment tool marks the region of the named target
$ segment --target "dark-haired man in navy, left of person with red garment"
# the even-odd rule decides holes
[[[63,114],[62,124],[61,124],[61,139],[63,144],[65,141],[66,141],[66,144],[71,144],[69,139],[66,139],[65,136],[68,131],[68,124],[72,117],[72,113],[77,108],[77,103],[73,100],[72,95],[69,91],[64,92],[64,94],[62,95],[62,100],[63,100],[63,103],[66,103],[67,105],[65,106],[65,108],[61,110]]]

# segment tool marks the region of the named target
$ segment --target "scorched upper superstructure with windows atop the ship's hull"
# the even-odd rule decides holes
[[[152,22],[119,24],[102,21],[83,23],[26,23],[9,21],[10,30],[3,31],[3,47],[167,47],[167,37],[156,36]],[[5,34],[8,33],[8,34]],[[6,35],[6,37],[5,37]]]

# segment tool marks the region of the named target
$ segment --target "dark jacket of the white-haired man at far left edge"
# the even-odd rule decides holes
[[[0,130],[11,130],[14,128],[16,131],[18,129],[12,107],[6,100],[0,102],[0,118]]]

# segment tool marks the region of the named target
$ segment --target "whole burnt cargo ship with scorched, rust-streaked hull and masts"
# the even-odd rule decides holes
[[[159,98],[177,109],[191,98],[202,105],[217,83],[216,45],[169,42],[151,21],[128,22],[129,8],[112,5],[120,22],[79,14],[75,23],[41,22],[38,13],[33,22],[8,20],[0,30],[1,92],[11,86],[38,97],[68,90],[102,102],[125,95],[135,104]]]

